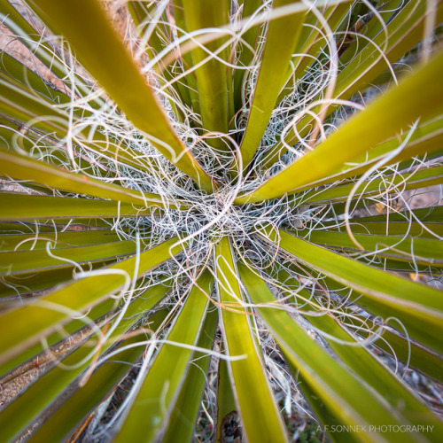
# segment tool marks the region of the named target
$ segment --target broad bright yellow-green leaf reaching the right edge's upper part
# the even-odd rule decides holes
[[[441,112],[443,83],[439,72],[443,69],[443,51],[408,76],[400,85],[377,98],[367,109],[346,121],[340,130],[330,135],[313,151],[264,183],[257,190],[237,198],[236,203],[262,201],[293,193],[307,184],[314,184],[334,173],[348,161],[354,161],[372,146],[405,128],[413,120],[426,119]],[[424,87],[425,86],[425,87]],[[421,94],[416,94],[420,89]],[[408,102],[403,97],[409,97]],[[384,110],[390,113],[385,114]],[[373,128],[377,127],[377,131]],[[346,146],[346,150],[340,149]],[[324,161],[324,159],[328,161]]]

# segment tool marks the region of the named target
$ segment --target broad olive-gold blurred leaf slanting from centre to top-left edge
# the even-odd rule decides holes
[[[211,179],[175,134],[152,89],[129,56],[97,0],[30,0],[43,20],[66,36],[82,65],[126,113],[136,128],[204,190]],[[82,23],[82,28],[77,26]],[[91,45],[91,42],[94,42]],[[146,110],[149,109],[149,118]]]

